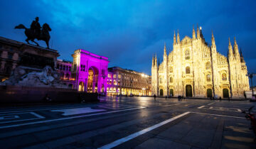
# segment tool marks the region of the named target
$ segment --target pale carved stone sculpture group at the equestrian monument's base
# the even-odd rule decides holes
[[[60,75],[53,71],[50,66],[43,68],[42,72],[28,72],[23,67],[16,67],[11,77],[0,85],[17,85],[27,87],[56,87],[67,88],[60,83]]]

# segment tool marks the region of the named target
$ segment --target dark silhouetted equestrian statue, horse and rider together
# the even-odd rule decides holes
[[[39,18],[36,17],[36,20],[34,20],[31,23],[31,28],[26,28],[25,26],[23,26],[23,24],[15,26],[15,28],[25,29],[25,35],[27,37],[26,42],[28,44],[30,44],[28,40],[31,40],[33,43],[36,43],[36,41],[34,41],[35,39],[44,40],[46,42],[47,48],[49,48],[49,40],[50,40],[49,31],[51,31],[50,26],[47,23],[44,23],[43,28],[41,28],[40,23],[38,21],[39,21]],[[36,45],[38,45],[38,43],[36,43]]]

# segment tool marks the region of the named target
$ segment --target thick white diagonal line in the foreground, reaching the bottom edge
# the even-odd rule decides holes
[[[157,123],[156,125],[154,125],[154,126],[151,126],[151,127],[149,127],[149,128],[145,128],[145,129],[143,129],[142,131],[139,131],[139,132],[137,132],[137,133],[133,133],[132,135],[129,135],[129,136],[126,136],[126,137],[124,137],[124,138],[120,138],[119,140],[115,140],[114,142],[112,142],[112,143],[109,143],[109,144],[107,144],[107,145],[104,145],[104,146],[102,146],[102,147],[100,147],[100,149],[107,149],[107,148],[114,148],[114,147],[116,147],[117,145],[120,145],[120,144],[122,144],[122,143],[124,143],[124,142],[127,142],[128,140],[132,140],[133,138],[136,138],[137,136],[141,136],[141,135],[143,135],[144,133],[147,133],[147,132],[149,132],[149,131],[152,131],[152,130],[154,130],[155,128],[159,128],[160,126],[163,126],[164,124],[166,124],[166,123],[169,123],[169,122],[171,122],[171,121],[174,121],[174,120],[176,120],[177,118],[180,118],[180,117],[182,117],[182,116],[185,116],[185,115],[187,115],[187,114],[189,114],[190,112],[189,111],[187,111],[187,112],[185,112],[185,113],[183,113],[183,114],[180,114],[180,115],[178,115],[178,116],[175,116],[175,117],[173,117],[173,118],[170,118],[170,119],[168,119],[168,120],[166,120],[166,121],[162,121],[161,123]]]

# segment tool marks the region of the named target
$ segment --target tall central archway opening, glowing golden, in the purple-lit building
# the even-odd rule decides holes
[[[99,71],[96,67],[90,67],[88,70],[88,81],[87,81],[87,92],[97,92],[97,81],[98,81]]]

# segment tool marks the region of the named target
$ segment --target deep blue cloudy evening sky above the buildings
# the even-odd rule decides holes
[[[41,25],[52,28],[50,48],[59,51],[60,59],[73,60],[73,51],[82,48],[109,57],[109,67],[151,75],[152,55],[163,60],[164,42],[172,50],[174,31],[178,29],[181,39],[191,37],[198,23],[208,43],[213,30],[223,55],[228,37],[233,44],[235,36],[249,72],[256,73],[256,1],[9,0],[0,6],[0,36],[24,42],[23,31],[14,26],[29,27],[38,16]]]

